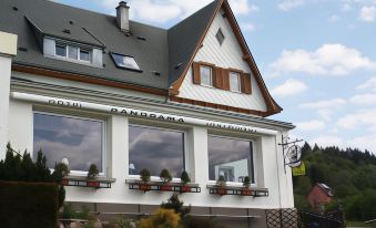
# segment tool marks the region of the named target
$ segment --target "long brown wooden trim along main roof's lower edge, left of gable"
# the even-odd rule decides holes
[[[88,75],[72,74],[72,73],[45,70],[45,69],[40,69],[40,68],[32,68],[32,66],[24,66],[24,65],[12,65],[12,71],[22,72],[22,73],[30,73],[30,74],[38,74],[38,75],[43,75],[43,76],[50,76],[50,77],[54,77],[54,79],[70,80],[70,81],[74,81],[74,82],[83,82],[83,83],[104,85],[104,86],[110,86],[110,87],[124,89],[124,90],[130,90],[130,91],[150,93],[150,94],[154,94],[154,95],[163,95],[163,96],[169,95],[167,90],[143,87],[143,86],[140,86],[140,85],[134,85],[134,84],[126,84],[126,83],[122,83],[122,82],[114,82],[114,81],[109,81],[109,80],[103,80],[103,79],[95,79],[95,77],[91,77],[91,76],[88,76]]]

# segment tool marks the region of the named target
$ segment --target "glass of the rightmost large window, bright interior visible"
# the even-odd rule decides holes
[[[217,180],[241,183],[245,176],[253,182],[252,142],[219,136],[209,136],[209,177]]]

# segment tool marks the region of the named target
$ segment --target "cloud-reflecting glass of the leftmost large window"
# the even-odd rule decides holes
[[[48,166],[67,158],[71,170],[87,172],[95,164],[103,172],[102,121],[34,113],[34,158],[42,149]]]

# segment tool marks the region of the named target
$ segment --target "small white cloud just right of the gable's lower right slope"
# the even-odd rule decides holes
[[[286,97],[303,93],[307,89],[308,86],[304,82],[289,79],[285,81],[282,85],[274,87],[271,93],[275,96]]]

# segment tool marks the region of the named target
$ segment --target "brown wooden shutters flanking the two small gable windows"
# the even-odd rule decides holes
[[[193,84],[201,84],[201,66],[211,68],[213,87],[231,91],[230,72],[236,72],[240,75],[241,92],[244,94],[252,94],[251,73],[245,73],[237,69],[223,69],[206,62],[192,63]]]

